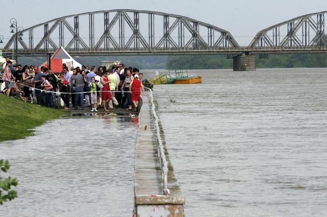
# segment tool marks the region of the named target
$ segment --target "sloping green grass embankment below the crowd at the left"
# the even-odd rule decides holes
[[[32,136],[29,129],[65,114],[63,110],[39,107],[0,94],[0,141]]]

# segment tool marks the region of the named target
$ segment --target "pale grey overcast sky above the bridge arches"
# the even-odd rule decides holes
[[[12,35],[12,17],[18,26],[28,28],[66,15],[125,8],[190,17],[228,30],[240,46],[246,46],[263,28],[327,10],[327,0],[6,0],[1,8],[0,35],[4,36],[4,44]]]

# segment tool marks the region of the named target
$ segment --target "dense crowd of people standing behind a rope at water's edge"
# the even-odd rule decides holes
[[[140,95],[144,96],[144,86],[141,82],[143,74],[137,68],[125,68],[117,64],[107,69],[105,66],[82,65],[68,69],[63,64],[61,72],[33,65],[12,65],[7,57],[3,65],[1,93],[7,96],[20,97],[25,102],[39,106],[57,108],[57,100],[61,106],[69,109],[92,108],[98,111],[103,108],[138,109]],[[84,103],[85,101],[85,103]]]

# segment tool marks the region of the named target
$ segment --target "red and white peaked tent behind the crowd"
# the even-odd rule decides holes
[[[51,56],[51,70],[53,72],[62,72],[63,64],[66,64],[69,71],[72,71],[73,68],[79,66],[82,68],[82,65],[74,60],[63,47],[60,47],[55,54]],[[48,68],[48,62],[44,62],[42,65],[39,66],[39,70],[41,70],[41,66]]]

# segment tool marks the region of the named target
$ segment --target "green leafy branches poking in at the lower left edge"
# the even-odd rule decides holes
[[[8,160],[3,161],[0,160],[0,168],[3,172],[7,172],[10,168],[10,164]],[[16,190],[10,190],[12,186],[17,186],[18,181],[16,178],[11,178],[10,176],[5,180],[2,180],[0,176],[0,204],[2,205],[3,202],[8,200],[12,200],[17,197]]]

